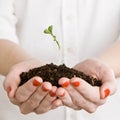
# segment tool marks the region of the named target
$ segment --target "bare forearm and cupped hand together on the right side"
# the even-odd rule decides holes
[[[87,59],[78,63],[74,68],[90,76],[102,80],[102,86],[92,87],[79,78],[61,78],[59,84],[64,88],[56,91],[63,104],[73,109],[85,109],[87,112],[95,112],[104,104],[107,97],[116,91],[116,78],[120,77],[120,40],[110,46],[104,53],[96,58]],[[68,86],[64,86],[68,82]],[[73,83],[79,83],[74,86]],[[74,92],[73,92],[74,91]],[[60,97],[61,93],[65,93]],[[85,104],[84,104],[85,103]]]

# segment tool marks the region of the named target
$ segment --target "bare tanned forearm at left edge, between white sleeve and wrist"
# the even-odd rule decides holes
[[[0,40],[0,74],[7,75],[14,64],[29,58],[28,53],[19,45],[8,40]]]

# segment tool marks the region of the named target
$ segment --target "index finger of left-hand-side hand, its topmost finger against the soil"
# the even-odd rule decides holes
[[[15,99],[19,102],[26,101],[42,84],[40,77],[33,77],[28,82],[20,86],[15,94]]]

